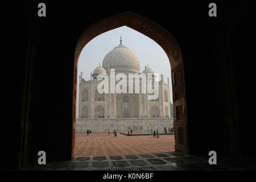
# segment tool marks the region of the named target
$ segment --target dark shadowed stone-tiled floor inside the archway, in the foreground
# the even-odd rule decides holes
[[[256,169],[255,159],[217,158],[217,165],[209,165],[207,158],[179,152],[155,154],[104,155],[30,165],[18,170],[86,170],[86,171],[234,171]]]

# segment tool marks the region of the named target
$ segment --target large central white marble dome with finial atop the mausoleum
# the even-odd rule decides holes
[[[115,72],[139,73],[141,64],[139,63],[138,56],[129,48],[123,46],[121,39],[119,46],[106,54],[102,62],[102,67],[107,73],[110,69],[115,69]]]

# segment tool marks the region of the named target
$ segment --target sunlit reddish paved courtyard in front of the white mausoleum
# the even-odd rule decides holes
[[[153,138],[152,135],[127,137],[113,133],[86,133],[76,134],[76,157],[90,155],[127,155],[149,154],[174,151],[174,135],[160,135]]]

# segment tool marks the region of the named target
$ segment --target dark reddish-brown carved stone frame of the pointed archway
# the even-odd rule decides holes
[[[170,32],[163,27],[144,18],[141,15],[135,14],[131,11],[117,14],[106,19],[102,19],[94,23],[80,36],[74,56],[74,75],[73,75],[73,139],[72,139],[72,157],[75,157],[75,137],[76,137],[76,92],[77,92],[77,65],[80,53],[96,36],[104,32],[113,30],[118,27],[127,26],[135,31],[141,32],[143,35],[154,40],[166,52],[171,64],[172,71],[172,95],[174,100],[174,127],[175,127],[175,151],[189,153],[188,144],[188,129],[187,129],[187,111],[185,100],[185,84],[184,84],[184,69],[183,57],[181,50],[176,40],[172,37]],[[177,95],[181,97],[177,97]],[[180,107],[182,112],[180,112]],[[179,111],[177,111],[179,110]],[[177,119],[179,118],[179,119]],[[179,140],[178,140],[179,136]]]

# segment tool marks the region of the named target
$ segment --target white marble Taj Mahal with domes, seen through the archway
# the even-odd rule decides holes
[[[154,71],[147,65],[142,73],[150,75],[153,82],[158,82],[159,97],[148,99],[146,93],[99,93],[98,84],[102,81],[100,75],[110,76],[110,70],[118,73],[140,73],[141,64],[138,56],[129,48],[123,46],[122,38],[119,46],[106,54],[99,66],[90,73],[90,80],[79,78],[79,117],[77,118],[77,132],[113,131],[164,131],[164,127],[173,126],[170,117],[170,82],[164,82],[163,74],[155,79]],[[150,74],[151,73],[151,74]],[[129,81],[127,81],[129,82]],[[117,83],[117,82],[116,82]],[[127,86],[128,89],[129,86]],[[141,87],[139,90],[141,91]]]

